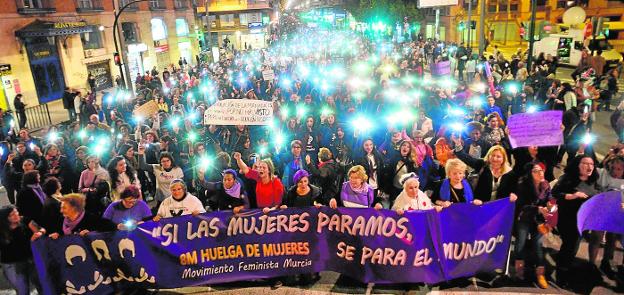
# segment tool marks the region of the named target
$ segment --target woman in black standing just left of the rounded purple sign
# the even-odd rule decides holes
[[[557,228],[562,240],[557,257],[557,281],[560,286],[570,283],[570,268],[581,242],[576,220],[578,210],[587,199],[600,193],[598,172],[594,165],[594,159],[589,155],[574,157],[552,190],[559,205]]]

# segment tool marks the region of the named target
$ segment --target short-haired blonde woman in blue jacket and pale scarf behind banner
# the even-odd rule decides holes
[[[474,198],[472,188],[466,180],[467,168],[468,166],[459,159],[446,161],[444,166],[446,179],[442,181],[440,190],[437,192],[436,205],[446,208],[453,203],[472,203],[475,205],[483,203],[481,200]]]

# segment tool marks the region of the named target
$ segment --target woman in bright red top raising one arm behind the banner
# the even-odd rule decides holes
[[[262,208],[264,213],[268,213],[280,206],[284,195],[284,185],[275,176],[275,167],[271,159],[260,160],[255,163],[256,169],[249,169],[239,152],[235,152],[233,157],[240,172],[246,178],[256,181],[256,208]]]

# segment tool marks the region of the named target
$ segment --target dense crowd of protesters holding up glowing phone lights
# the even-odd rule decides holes
[[[451,74],[428,73],[443,61]],[[32,231],[58,238],[214,210],[403,214],[509,198],[517,202],[513,273],[522,280],[526,262],[537,285],[548,287],[542,239],[556,228],[563,241],[556,277],[565,286],[581,240],[580,205],[624,188],[624,118],[613,120],[618,140],[604,159],[590,140],[595,112],[617,93],[618,73],[602,78],[585,67],[575,83],[561,83],[556,59],[540,55],[528,70],[525,62],[522,52],[511,60],[497,49],[478,57],[463,44],[435,40],[304,32],[269,49],[225,51],[214,63],[154,68],[135,78],[136,98],[119,89],[102,93],[98,105],[89,95],[78,99],[78,114],[77,94],[67,89],[78,120],[40,138],[2,117],[2,184],[15,206],[0,211],[0,263],[26,294]],[[224,99],[272,101],[273,124],[204,125],[204,111]],[[157,113],[133,114],[152,100]],[[512,149],[509,116],[541,110],[564,111],[565,144]],[[592,263],[604,235],[591,234]],[[606,240],[600,270],[615,277],[618,237],[606,233]]]

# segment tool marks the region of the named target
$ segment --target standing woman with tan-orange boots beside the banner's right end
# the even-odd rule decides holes
[[[528,253],[526,243],[531,237],[532,253],[535,255],[535,276],[537,285],[542,288],[548,288],[544,269],[544,246],[542,240],[544,232],[540,230],[544,228],[546,217],[550,217],[552,212],[556,210],[553,206],[554,198],[552,197],[550,184],[544,178],[546,165],[542,162],[527,163],[524,167],[524,175],[518,181],[511,195],[517,197],[516,203],[516,277],[524,280],[524,261]],[[553,209],[554,208],[554,209]]]

